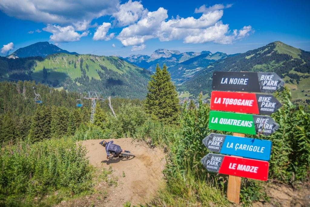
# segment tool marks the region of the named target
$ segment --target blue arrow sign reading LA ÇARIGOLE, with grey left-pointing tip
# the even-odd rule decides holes
[[[202,140],[211,152],[258,160],[270,159],[271,141],[211,133]]]

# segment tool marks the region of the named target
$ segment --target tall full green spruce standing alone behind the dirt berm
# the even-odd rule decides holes
[[[166,65],[163,65],[161,70],[157,64],[156,72],[151,75],[147,89],[146,113],[166,124],[174,124],[179,117],[179,99]]]

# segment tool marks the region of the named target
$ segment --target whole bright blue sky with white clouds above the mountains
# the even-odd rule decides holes
[[[2,56],[42,41],[80,54],[310,51],[310,1],[0,0]]]

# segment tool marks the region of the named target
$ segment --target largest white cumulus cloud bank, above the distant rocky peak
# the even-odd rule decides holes
[[[223,9],[229,5],[216,4],[211,7],[205,5],[196,9],[196,13],[202,13],[196,19],[194,17],[172,18],[167,20],[167,10],[159,8],[157,11],[148,12],[135,24],[123,28],[117,36],[122,44],[134,46],[133,49],[142,48],[142,45],[152,38],[160,41],[183,39],[184,43],[207,43],[231,44],[237,39],[245,38],[251,31],[251,26],[244,26],[240,30],[230,31],[228,24],[220,20]]]

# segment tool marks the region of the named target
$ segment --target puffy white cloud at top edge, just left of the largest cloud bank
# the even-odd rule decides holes
[[[112,16],[117,20],[118,26],[127,26],[135,23],[142,16],[147,14],[148,10],[143,8],[141,2],[128,2],[121,4],[119,10]]]

